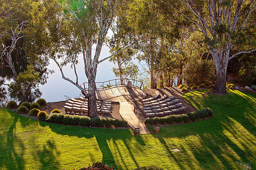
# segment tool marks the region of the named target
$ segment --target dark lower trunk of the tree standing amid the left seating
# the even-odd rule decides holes
[[[89,73],[90,74],[90,73]],[[96,106],[96,84],[95,78],[91,73],[88,78],[89,86],[88,86],[88,116],[90,118],[98,117],[97,114],[97,106]]]

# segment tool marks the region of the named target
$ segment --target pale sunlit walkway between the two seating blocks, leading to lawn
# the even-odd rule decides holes
[[[134,130],[135,128],[139,128],[140,134],[151,133],[151,131],[147,128],[143,121],[139,120],[138,117],[134,113],[134,104],[124,101],[119,102],[120,109],[119,112],[121,117],[128,122],[131,128]]]

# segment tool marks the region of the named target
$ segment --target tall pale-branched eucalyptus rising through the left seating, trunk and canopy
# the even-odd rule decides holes
[[[54,36],[49,33],[48,36],[51,37],[51,39],[44,45],[46,49],[48,49],[49,56],[51,56],[59,67],[62,78],[74,84],[81,90],[82,94],[88,98],[89,117],[98,117],[95,83],[98,64],[126,48],[124,47],[110,56],[99,59],[102,46],[106,41],[106,35],[110,25],[113,24],[116,8],[121,4],[122,1],[120,0],[61,1],[56,7],[60,6],[62,11],[57,11],[59,13],[54,15],[55,18],[53,20],[57,20],[59,23],[64,23],[67,25],[67,28],[61,29],[61,24],[56,30],[54,30],[56,27],[51,27],[51,30],[49,31],[52,32]],[[54,24],[54,22],[52,23]],[[68,29],[68,35],[61,36],[62,33],[65,33],[65,29]],[[56,44],[56,47],[55,45],[52,45],[51,41]],[[65,43],[66,41],[68,43]],[[84,73],[86,78],[88,78],[88,91],[80,86],[79,77],[75,67],[80,52],[82,53],[84,61]],[[63,58],[64,60],[59,61],[59,58]],[[65,76],[63,67],[66,66],[67,63],[72,63],[76,74],[76,80],[72,80]]]

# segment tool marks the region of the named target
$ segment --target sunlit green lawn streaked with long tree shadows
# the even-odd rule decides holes
[[[0,109],[0,169],[78,169],[97,161],[116,169],[155,164],[164,169],[256,168],[256,95],[193,91],[183,97],[215,117],[160,128],[160,134],[133,135],[129,129],[64,126]],[[178,148],[179,152],[171,149]]]

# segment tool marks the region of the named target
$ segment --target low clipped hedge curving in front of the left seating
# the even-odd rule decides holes
[[[80,125],[92,127],[128,127],[125,120],[118,120],[114,118],[89,118],[88,116],[76,116],[62,113],[51,113],[45,117],[46,122],[52,122],[65,125]]]

